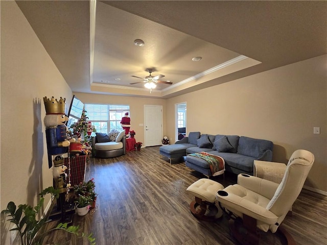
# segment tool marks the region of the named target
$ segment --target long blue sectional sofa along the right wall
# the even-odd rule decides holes
[[[253,161],[272,161],[273,143],[265,139],[254,139],[238,135],[209,135],[190,132],[188,137],[176,141],[175,144],[160,146],[160,155],[170,160],[186,156],[186,166],[211,176],[209,164],[188,154],[208,152],[225,160],[225,169],[234,174],[253,175]]]

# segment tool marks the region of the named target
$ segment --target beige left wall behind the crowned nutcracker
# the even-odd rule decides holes
[[[35,205],[52,186],[44,96],[70,103],[72,91],[16,3],[1,1],[1,210],[9,201]],[[1,228],[0,243],[9,244]]]

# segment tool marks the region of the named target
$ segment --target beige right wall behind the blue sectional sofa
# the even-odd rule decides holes
[[[306,186],[327,191],[326,60],[320,56],[174,97],[187,103],[187,131],[236,134],[274,143],[273,160],[287,162],[297,149],[315,155]],[[313,134],[320,127],[320,134]],[[174,122],[167,121],[168,135]]]

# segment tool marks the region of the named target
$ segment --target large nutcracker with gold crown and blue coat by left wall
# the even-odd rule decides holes
[[[43,97],[46,115],[44,117],[46,145],[48,147],[49,168],[52,167],[52,156],[68,152],[69,141],[67,140],[65,115],[65,98],[57,101],[54,96],[48,99]]]

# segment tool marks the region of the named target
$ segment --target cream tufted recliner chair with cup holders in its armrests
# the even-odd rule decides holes
[[[238,175],[238,184],[217,191],[220,207],[230,220],[231,234],[241,244],[259,244],[260,230],[275,233],[297,199],[314,162],[306,150],[295,151],[280,184],[246,174]],[[273,164],[273,163],[272,163]],[[288,240],[295,241],[279,228]]]

